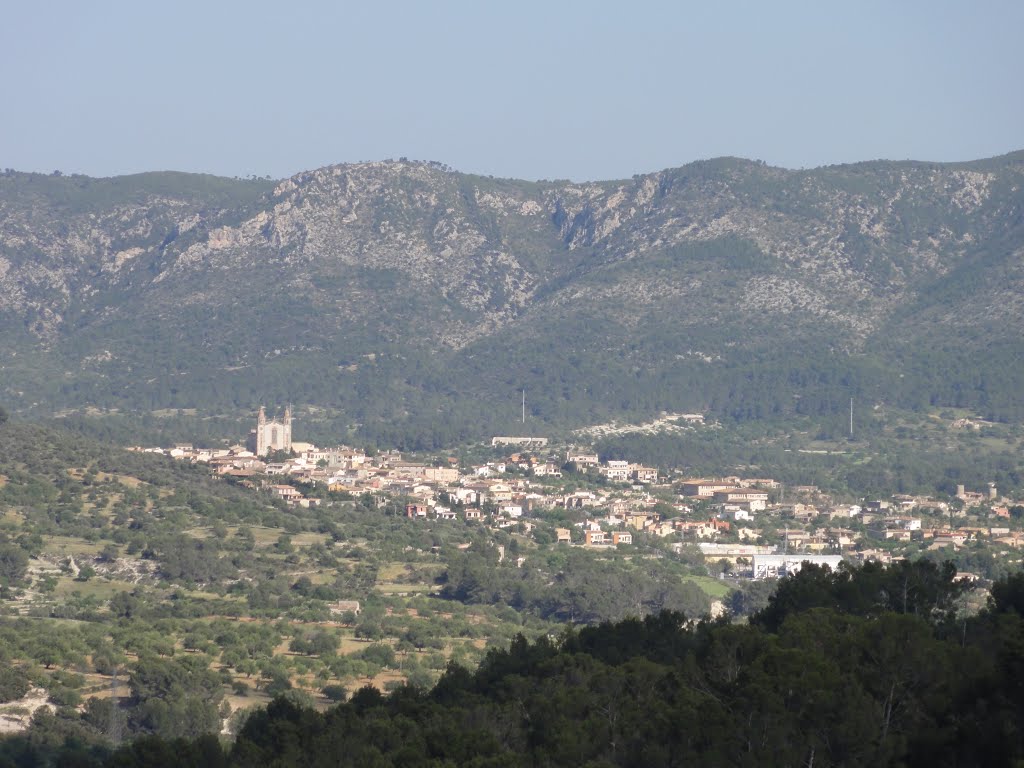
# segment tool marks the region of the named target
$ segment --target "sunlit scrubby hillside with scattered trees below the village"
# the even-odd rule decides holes
[[[657,542],[559,548],[325,488],[289,507],[34,425],[0,424],[0,724],[46,705],[43,742],[215,733],[279,693],[426,688],[517,634],[711,607],[699,554]]]

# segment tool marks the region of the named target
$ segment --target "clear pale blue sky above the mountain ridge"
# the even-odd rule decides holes
[[[2,0],[0,167],[628,178],[1024,148],[1024,2]]]

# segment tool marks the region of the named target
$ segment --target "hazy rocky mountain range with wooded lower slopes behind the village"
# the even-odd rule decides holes
[[[249,413],[442,443],[856,396],[1024,417],[1024,153],[526,182],[0,176],[10,410]]]

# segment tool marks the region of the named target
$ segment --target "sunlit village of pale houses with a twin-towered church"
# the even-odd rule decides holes
[[[292,441],[291,414],[260,411],[248,444],[225,449],[134,449],[203,463],[225,479],[285,505],[315,507],[369,496],[391,514],[506,529],[539,543],[592,549],[644,542],[682,554],[699,550],[710,569],[761,579],[806,561],[892,562],[912,554],[984,548],[988,559],[1021,562],[1021,512],[989,484],[957,486],[952,498],[899,495],[851,503],[813,485],[770,477],[687,477],[545,437],[498,436],[490,458],[460,466],[455,457],[393,451],[321,449]],[[665,474],[663,474],[663,472]],[[986,574],[967,572],[965,578]]]

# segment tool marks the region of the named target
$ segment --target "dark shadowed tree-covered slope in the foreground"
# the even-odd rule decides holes
[[[0,765],[999,766],[1024,759],[1024,574],[968,616],[952,566],[805,566],[745,624],[626,620],[451,666],[426,691],[287,697],[237,739],[111,753],[45,723]]]

